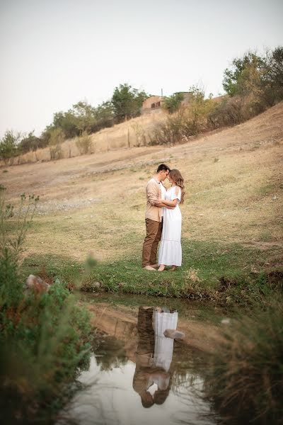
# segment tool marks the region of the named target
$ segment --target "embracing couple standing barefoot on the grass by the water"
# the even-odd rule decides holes
[[[163,186],[166,179],[171,183],[167,191]],[[166,266],[171,266],[170,270],[174,271],[181,266],[182,215],[178,204],[183,203],[184,195],[184,179],[180,171],[160,164],[146,186],[146,237],[142,249],[142,267],[146,270],[158,268],[163,271]]]

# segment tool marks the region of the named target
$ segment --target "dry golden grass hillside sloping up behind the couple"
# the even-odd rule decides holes
[[[185,145],[127,148],[122,140],[109,152],[1,169],[8,200],[40,195],[26,255],[84,259],[92,251],[110,261],[139,253],[144,189],[161,162],[185,177],[183,238],[282,246],[283,103]]]

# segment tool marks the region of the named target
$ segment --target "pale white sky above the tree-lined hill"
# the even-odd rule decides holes
[[[281,0],[0,0],[0,137],[125,82],[216,96],[234,57],[283,44],[282,17]]]

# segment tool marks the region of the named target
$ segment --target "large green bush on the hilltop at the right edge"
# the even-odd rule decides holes
[[[283,47],[265,56],[247,52],[224,72],[224,90],[233,101],[222,103],[211,117],[214,127],[242,123],[283,100]]]

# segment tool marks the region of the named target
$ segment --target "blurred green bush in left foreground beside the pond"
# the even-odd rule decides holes
[[[6,208],[1,188],[0,409],[6,424],[38,423],[54,414],[88,366],[92,342],[88,312],[59,280],[47,293],[24,290],[18,254],[34,203],[30,196],[25,205],[22,196],[18,210]]]

